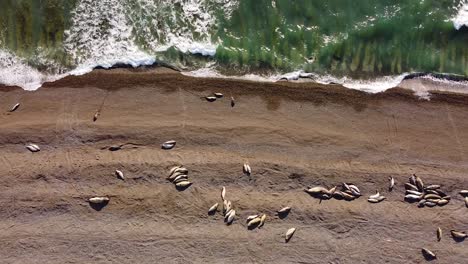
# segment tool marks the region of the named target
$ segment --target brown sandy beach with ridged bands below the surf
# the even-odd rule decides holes
[[[226,96],[200,98],[210,92]],[[1,263],[424,263],[422,247],[438,263],[468,259],[467,242],[449,235],[468,231],[457,194],[468,188],[466,96],[424,101],[399,89],[368,95],[157,69],[98,70],[35,92],[1,89],[2,108],[17,102],[16,112],[0,115]],[[170,139],[175,149],[162,150]],[[28,152],[30,142],[42,150]],[[121,143],[134,145],[105,149]],[[183,192],[165,180],[175,164],[194,182]],[[412,173],[442,184],[452,201],[403,202]],[[397,185],[388,193],[390,175]],[[303,192],[344,181],[364,196],[319,203]],[[207,215],[222,186],[237,210],[232,226]],[[387,200],[368,203],[375,190]],[[96,195],[111,197],[101,211],[86,202]],[[279,219],[284,206],[293,209]],[[267,222],[248,231],[253,213]],[[297,231],[286,244],[290,227]]]

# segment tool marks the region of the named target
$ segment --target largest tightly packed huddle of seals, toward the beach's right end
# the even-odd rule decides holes
[[[413,174],[409,182],[405,183],[405,201],[418,202],[418,207],[444,206],[450,202],[450,196],[440,190],[439,184],[431,184],[424,187],[421,177]]]

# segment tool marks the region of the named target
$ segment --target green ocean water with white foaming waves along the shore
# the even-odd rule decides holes
[[[468,78],[467,44],[468,0],[0,0],[0,83],[29,90],[166,63],[381,92],[421,73]]]

